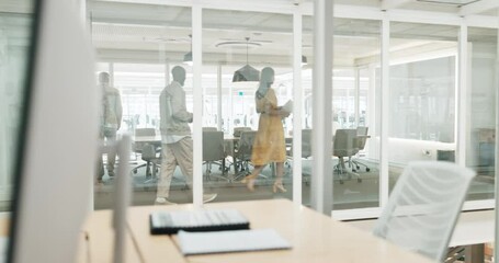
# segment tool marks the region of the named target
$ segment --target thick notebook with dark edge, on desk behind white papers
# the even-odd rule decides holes
[[[248,219],[236,209],[152,211],[151,235],[249,229]]]

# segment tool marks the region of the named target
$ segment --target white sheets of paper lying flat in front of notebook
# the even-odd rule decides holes
[[[215,232],[179,231],[179,241],[180,250],[184,255],[291,249],[290,242],[274,229]]]

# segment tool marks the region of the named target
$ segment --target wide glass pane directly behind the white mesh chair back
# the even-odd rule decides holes
[[[454,161],[458,27],[393,22],[390,28],[392,190],[409,161]]]

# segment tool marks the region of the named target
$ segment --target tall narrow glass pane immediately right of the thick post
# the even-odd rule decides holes
[[[333,209],[379,206],[381,21],[334,19],[332,72]]]

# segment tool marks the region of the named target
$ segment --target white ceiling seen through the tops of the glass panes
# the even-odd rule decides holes
[[[342,2],[342,1],[338,1]],[[350,4],[378,4],[378,1],[350,1]],[[412,1],[415,5],[434,5]],[[455,9],[455,7],[453,7]],[[144,60],[182,61],[191,50],[191,9],[106,1],[89,2],[92,37],[101,59],[134,53]],[[313,61],[313,19],[303,20],[303,54]],[[246,64],[246,37],[251,65],[292,65],[293,18],[291,14],[241,12],[226,10],[203,11],[204,64]],[[398,23],[392,24],[392,48],[415,47],[457,41],[457,26]],[[334,20],[334,62],[353,66],[366,57],[379,56],[381,22],[370,20]],[[233,45],[223,45],[233,43]],[[237,43],[235,45],[234,43]],[[372,59],[371,59],[372,60]]]

